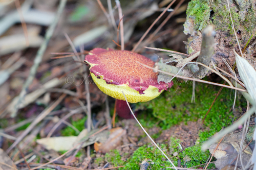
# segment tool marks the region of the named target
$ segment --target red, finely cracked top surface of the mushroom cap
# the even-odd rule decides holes
[[[126,85],[131,89],[138,91],[138,94],[140,95],[144,95],[145,90],[147,90],[149,87],[157,88],[158,93],[160,94],[163,90],[167,90],[167,88],[172,87],[173,85],[173,82],[158,83],[158,74],[153,72],[152,69],[146,68],[138,62],[150,67],[154,67],[155,63],[140,54],[130,51],[114,51],[112,49],[105,50],[103,48],[94,48],[94,50],[90,51],[89,55],[86,56],[85,61],[91,65],[91,73],[94,74],[98,79],[103,79],[106,84],[116,86]],[[97,82],[95,83],[97,84]],[[104,90],[102,91],[104,92]]]

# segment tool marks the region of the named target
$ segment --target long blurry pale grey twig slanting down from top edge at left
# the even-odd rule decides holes
[[[12,117],[14,117],[17,114],[19,104],[20,104],[20,102],[23,101],[25,95],[27,94],[29,85],[33,82],[33,80],[35,78],[36,70],[37,70],[39,64],[41,63],[42,56],[44,55],[44,53],[46,51],[47,45],[50,41],[50,38],[53,35],[53,32],[54,32],[55,27],[57,25],[57,22],[58,22],[61,14],[63,12],[63,9],[64,9],[66,3],[67,3],[67,0],[61,0],[60,3],[59,3],[59,7],[58,7],[56,17],[54,18],[53,23],[51,24],[51,26],[49,27],[49,29],[46,32],[45,40],[41,44],[39,50],[37,51],[36,57],[34,59],[34,65],[30,68],[29,77],[27,78],[27,80],[26,80],[26,82],[25,82],[25,84],[22,88],[22,91],[19,93],[19,99],[18,99],[17,104],[15,105],[14,113],[11,114]]]

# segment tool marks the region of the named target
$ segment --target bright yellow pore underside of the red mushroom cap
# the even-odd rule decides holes
[[[155,99],[157,96],[161,94],[161,92],[163,92],[163,90],[161,92],[158,92],[158,88],[150,85],[144,91],[145,94],[140,94],[138,91],[130,88],[126,84],[106,84],[105,80],[97,79],[97,77],[93,73],[91,73],[91,76],[95,84],[103,93],[112,96],[112,98],[125,101],[125,98],[122,93],[123,91],[127,101],[130,103],[147,102],[152,99]]]

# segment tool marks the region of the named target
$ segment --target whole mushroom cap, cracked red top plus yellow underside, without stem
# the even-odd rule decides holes
[[[173,82],[157,82],[157,73],[140,63],[154,67],[152,60],[130,51],[94,48],[84,60],[90,65],[98,88],[115,99],[130,103],[147,102],[172,87]]]

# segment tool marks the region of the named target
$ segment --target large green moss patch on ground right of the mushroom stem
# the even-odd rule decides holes
[[[168,129],[180,122],[202,119],[219,89],[220,87],[217,86],[196,83],[196,102],[191,103],[193,90],[191,82],[174,81],[174,86],[169,89],[169,92],[164,92],[157,99],[150,102],[138,104],[139,108],[146,109],[142,114],[144,121],[142,118],[140,118],[140,121],[143,126],[153,124],[162,129]],[[233,104],[233,95],[230,94],[230,91],[230,89],[224,88],[211,108],[204,122],[204,125],[209,127],[210,130],[201,133],[200,141],[206,140],[221,130],[223,126],[226,127],[231,124],[233,115],[229,110]],[[149,116],[151,113],[157,119],[151,118]]]

